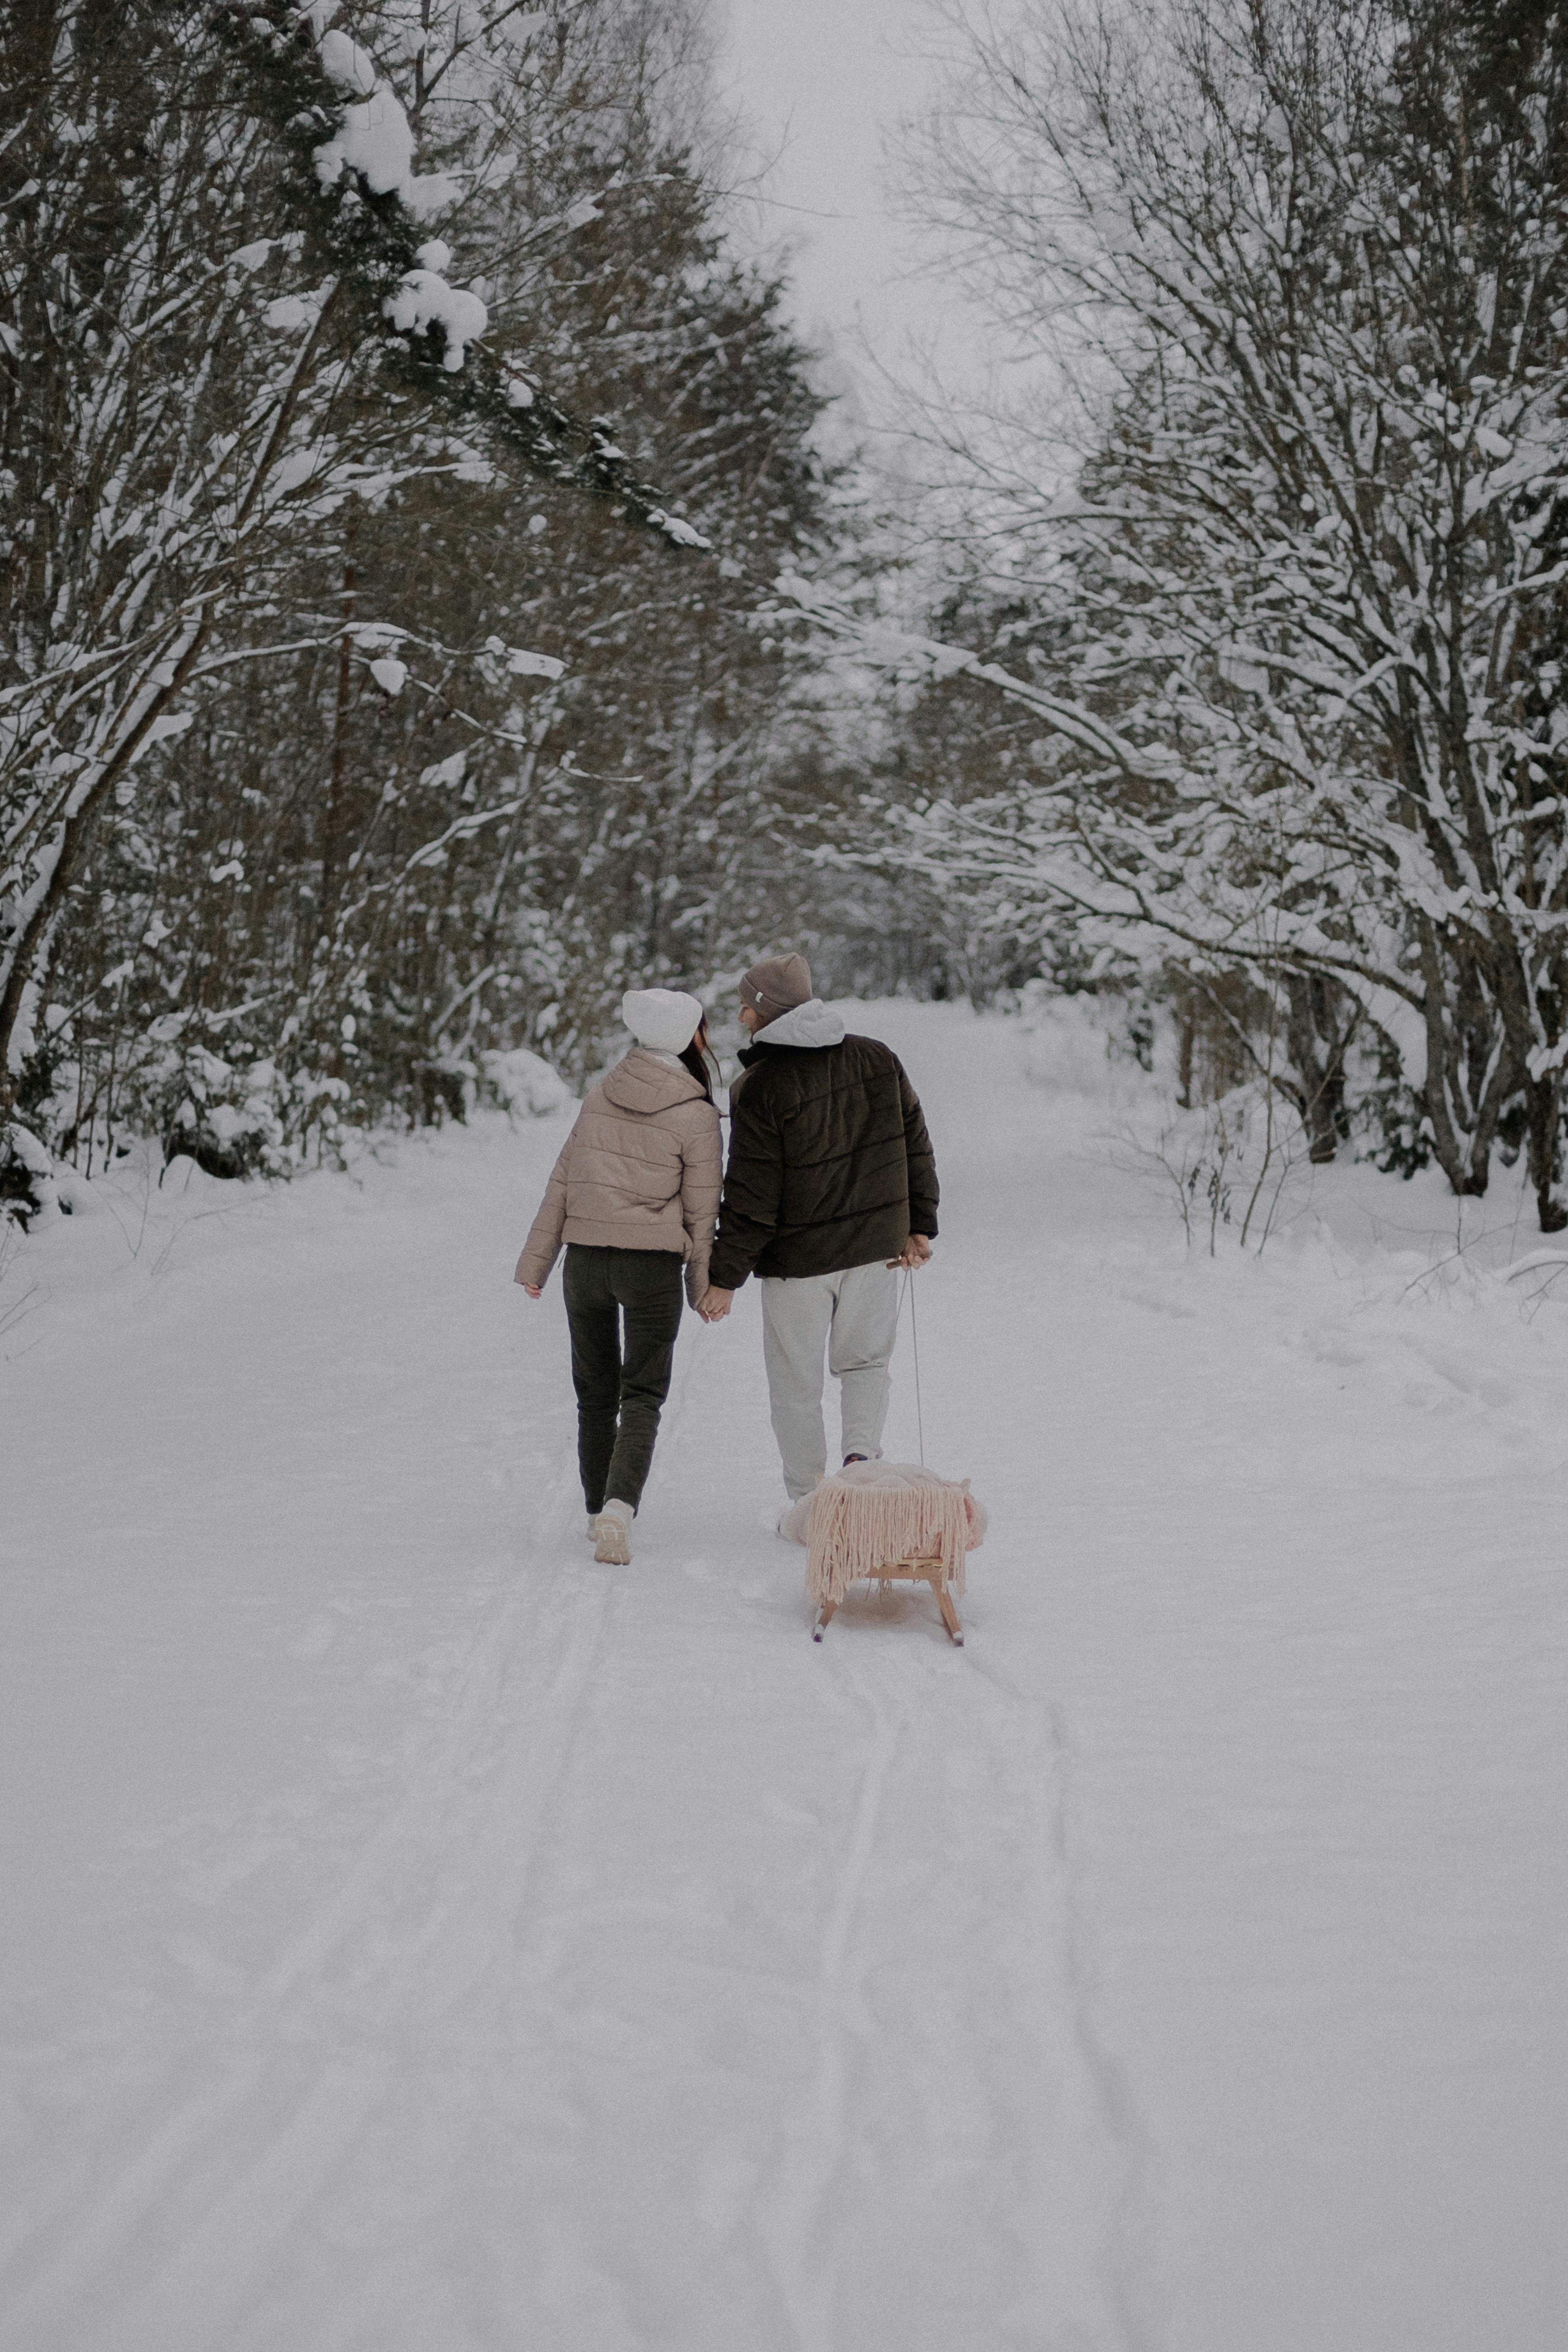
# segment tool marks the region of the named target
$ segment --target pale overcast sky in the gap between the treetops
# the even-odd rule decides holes
[[[799,325],[849,365],[863,327],[891,365],[945,308],[940,287],[910,282],[919,245],[891,216],[884,172],[898,118],[933,87],[924,0],[715,0],[715,21],[729,103],[776,155],[759,219],[795,247]]]

